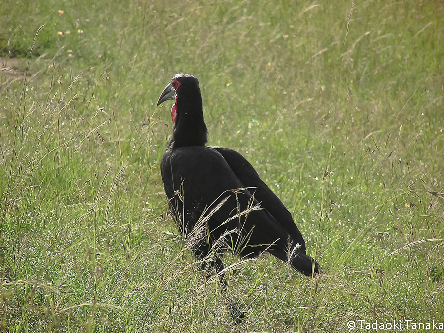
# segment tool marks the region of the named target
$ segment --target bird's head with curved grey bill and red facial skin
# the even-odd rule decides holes
[[[165,101],[175,100],[175,103],[171,108],[171,120],[173,120],[173,124],[175,124],[178,99],[182,100],[182,96],[192,96],[194,94],[197,94],[200,97],[199,81],[197,78],[192,75],[176,74],[165,89],[163,89],[162,94],[160,94],[157,106]]]

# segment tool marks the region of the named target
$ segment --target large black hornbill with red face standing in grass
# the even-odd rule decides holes
[[[157,106],[170,99],[175,100],[174,126],[161,161],[162,180],[182,235],[195,233],[196,224],[201,224],[200,238],[191,247],[197,259],[208,260],[219,273],[226,249],[248,258],[268,251],[304,275],[320,273],[319,264],[305,253],[291,213],[252,165],[234,150],[205,146],[207,127],[197,78],[174,76]]]

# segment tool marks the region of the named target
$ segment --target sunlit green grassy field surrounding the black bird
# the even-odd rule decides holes
[[[443,17],[442,0],[0,1],[0,331],[433,332]],[[228,255],[226,293],[205,279],[160,179],[176,73],[326,275]]]

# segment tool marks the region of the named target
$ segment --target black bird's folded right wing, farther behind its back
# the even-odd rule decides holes
[[[302,234],[293,221],[292,214],[284,204],[274,194],[274,192],[260,179],[259,174],[253,166],[235,150],[223,147],[212,147],[218,151],[233,170],[244,187],[252,187],[251,193],[259,201],[260,205],[266,209],[279,222],[287,232],[292,235],[302,246],[305,253],[305,242]]]

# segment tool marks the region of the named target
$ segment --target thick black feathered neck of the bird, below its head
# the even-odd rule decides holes
[[[207,126],[203,118],[202,97],[199,93],[186,94],[176,100],[176,122],[173,127],[172,146],[205,146]]]

